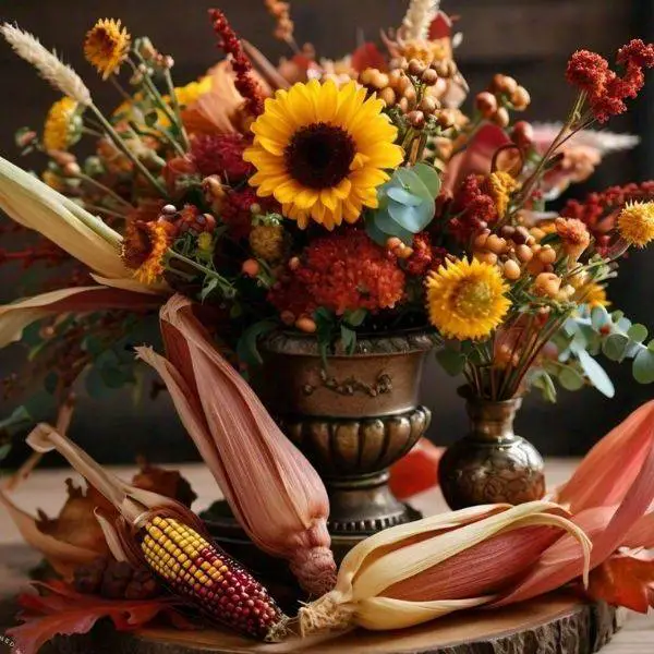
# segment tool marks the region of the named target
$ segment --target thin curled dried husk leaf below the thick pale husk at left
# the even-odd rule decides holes
[[[21,339],[23,330],[50,315],[110,308],[144,310],[160,301],[152,294],[101,286],[50,291],[0,306],[0,348]]]

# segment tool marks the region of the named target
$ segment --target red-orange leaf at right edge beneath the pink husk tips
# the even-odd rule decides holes
[[[593,600],[646,614],[654,607],[654,554],[644,549],[614,554],[591,572],[588,593]]]

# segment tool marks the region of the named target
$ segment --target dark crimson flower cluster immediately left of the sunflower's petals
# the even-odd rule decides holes
[[[240,134],[202,134],[191,144],[191,158],[204,177],[218,174],[228,182],[240,182],[254,172],[243,161],[247,142]]]

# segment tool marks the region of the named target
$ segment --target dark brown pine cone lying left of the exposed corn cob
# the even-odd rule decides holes
[[[107,600],[149,600],[161,594],[161,586],[146,568],[105,557],[80,566],[73,586],[78,593]]]

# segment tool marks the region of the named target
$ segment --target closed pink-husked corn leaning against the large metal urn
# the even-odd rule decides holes
[[[320,477],[218,353],[187,299],[173,296],[160,318],[168,359],[148,348],[138,355],[168,387],[235,518],[261,549],[289,560],[305,591],[327,592],[336,564]]]

